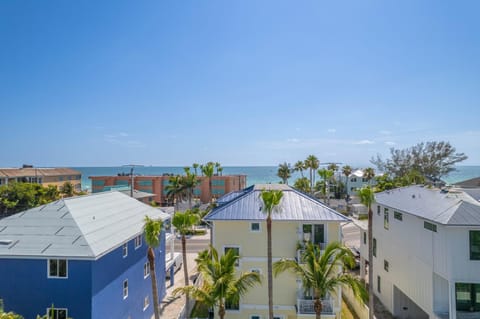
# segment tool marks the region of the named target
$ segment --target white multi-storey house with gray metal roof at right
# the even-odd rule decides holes
[[[423,186],[376,194],[373,285],[396,318],[480,318],[479,199]]]

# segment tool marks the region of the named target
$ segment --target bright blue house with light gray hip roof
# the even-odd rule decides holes
[[[144,218],[169,215],[120,192],[62,199],[0,220],[0,299],[35,319],[153,315]],[[165,232],[155,250],[165,296]]]

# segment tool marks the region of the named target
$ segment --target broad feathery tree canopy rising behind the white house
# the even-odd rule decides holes
[[[454,165],[467,159],[464,153],[457,153],[449,142],[422,142],[406,149],[390,149],[390,158],[383,160],[380,155],[370,162],[379,171],[394,177],[403,177],[418,172],[429,179],[439,179],[455,170]]]

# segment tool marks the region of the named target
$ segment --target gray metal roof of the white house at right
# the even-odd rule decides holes
[[[377,203],[444,225],[480,225],[480,203],[462,189],[415,185],[375,195]]]

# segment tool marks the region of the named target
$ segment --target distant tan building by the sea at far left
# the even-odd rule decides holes
[[[75,191],[82,188],[82,173],[71,168],[47,168],[24,165],[22,168],[0,168],[0,186],[13,182],[36,183],[43,186],[54,185],[59,189],[70,182]]]

